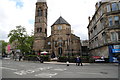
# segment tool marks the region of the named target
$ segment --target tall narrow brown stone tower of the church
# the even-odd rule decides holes
[[[34,24],[34,51],[43,51],[45,47],[45,39],[47,38],[47,8],[46,0],[37,1]]]

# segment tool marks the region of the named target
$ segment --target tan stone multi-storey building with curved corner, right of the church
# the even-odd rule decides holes
[[[120,2],[118,0],[101,1],[95,5],[93,17],[89,17],[88,34],[91,56],[110,58],[110,47],[120,49]]]

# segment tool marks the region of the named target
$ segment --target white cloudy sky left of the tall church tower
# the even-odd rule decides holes
[[[6,34],[22,25],[30,34],[34,29],[35,0],[0,0],[0,30]],[[0,34],[1,35],[1,34]],[[7,37],[2,38],[8,41]]]

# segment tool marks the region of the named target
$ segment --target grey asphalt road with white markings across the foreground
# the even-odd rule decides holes
[[[0,60],[1,61],[1,60]],[[2,78],[118,78],[116,64],[48,64],[2,60]]]

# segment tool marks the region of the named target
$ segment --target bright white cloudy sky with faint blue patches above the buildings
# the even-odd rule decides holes
[[[34,31],[35,3],[37,0],[0,0],[0,40],[9,41],[7,35],[16,28],[23,26],[30,35]],[[98,0],[47,0],[48,5],[48,36],[51,25],[62,16],[69,24],[73,33],[81,40],[88,39],[88,16],[95,13]]]

